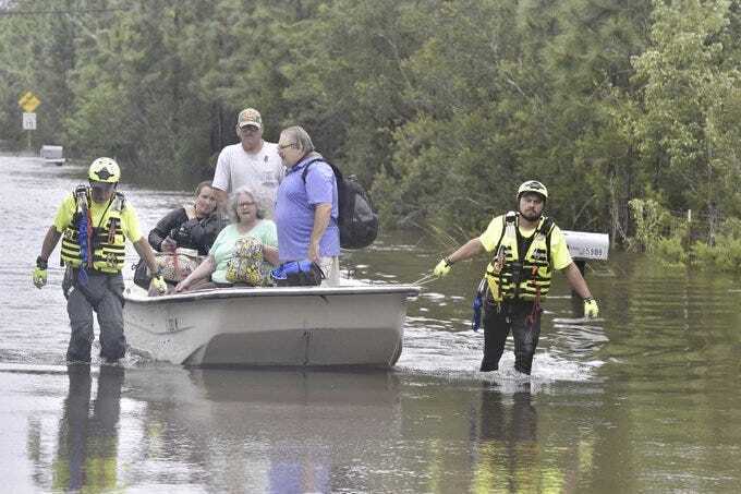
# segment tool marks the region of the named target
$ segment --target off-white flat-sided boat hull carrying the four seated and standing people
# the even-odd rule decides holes
[[[195,366],[392,366],[412,285],[219,288],[148,297],[130,284],[131,347]]]

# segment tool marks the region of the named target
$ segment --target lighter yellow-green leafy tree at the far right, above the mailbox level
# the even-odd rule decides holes
[[[738,116],[739,73],[720,43],[732,3],[655,1],[652,46],[634,60],[641,93],[630,124],[646,185],[670,209],[707,209],[722,195],[738,210],[727,179],[738,170],[738,131],[728,124]]]

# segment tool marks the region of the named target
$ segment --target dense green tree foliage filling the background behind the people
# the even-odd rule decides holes
[[[386,225],[464,238],[537,178],[564,228],[629,201],[741,213],[737,0],[15,0],[0,129],[195,183],[258,108],[372,186]]]

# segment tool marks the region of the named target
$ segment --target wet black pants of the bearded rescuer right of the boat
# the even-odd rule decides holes
[[[502,302],[491,299],[484,303],[484,359],[482,372],[499,369],[499,359],[505,351],[505,341],[512,332],[514,340],[514,370],[530,374],[533,356],[540,336],[539,308],[533,302]]]

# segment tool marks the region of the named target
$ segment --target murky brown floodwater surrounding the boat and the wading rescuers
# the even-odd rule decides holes
[[[741,282],[615,254],[590,265],[604,321],[571,324],[558,277],[533,375],[477,372],[485,261],[410,302],[388,372],[189,370],[129,356],[68,369],[58,251],[31,272],[84,170],[0,156],[3,492],[739,492]],[[123,183],[143,230],[187,200]],[[354,277],[414,281],[446,248],[385,236]],[[131,260],[134,260],[133,251]],[[131,272],[126,270],[126,277]]]

